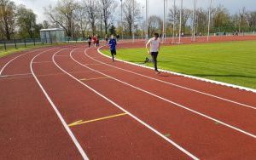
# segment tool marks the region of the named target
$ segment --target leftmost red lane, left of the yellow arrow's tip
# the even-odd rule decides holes
[[[45,54],[56,50],[44,49]],[[31,72],[28,65],[33,56],[13,61],[4,74]],[[0,159],[80,158],[33,77],[0,77],[0,90]]]

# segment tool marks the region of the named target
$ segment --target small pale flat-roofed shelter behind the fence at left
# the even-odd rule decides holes
[[[42,29],[40,37],[44,43],[61,43],[65,41],[65,31],[61,28]]]

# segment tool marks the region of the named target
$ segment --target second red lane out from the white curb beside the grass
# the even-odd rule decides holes
[[[84,56],[92,60],[93,58],[90,58],[90,57],[95,56],[95,54],[96,54],[96,50],[94,50],[94,52],[88,51],[88,53],[84,54]],[[101,61],[102,59],[95,60],[95,62],[98,62],[98,63]],[[109,60],[105,60],[105,61],[109,62]],[[121,65],[123,63],[116,62],[114,64]],[[119,68],[122,68],[122,66],[120,65],[119,65]],[[91,66],[91,67],[101,70],[101,68],[104,68],[106,66],[111,67],[110,64],[106,64],[106,65],[103,64],[102,66]],[[126,67],[126,69],[129,70],[128,67]],[[141,73],[147,75],[146,72],[148,72],[148,69],[143,69],[143,70],[147,70],[147,71],[143,71]],[[139,67],[137,67],[137,71],[140,71]],[[152,73],[154,74],[154,71],[150,71],[150,72],[151,73],[148,72],[148,75],[150,74],[152,75]],[[237,128],[256,134],[256,128],[253,125],[256,123],[256,118],[255,118],[256,106],[251,106],[252,108],[249,108],[247,106],[237,105],[236,103],[232,103],[227,100],[220,100],[212,96],[192,92],[188,89],[177,88],[167,83],[160,83],[154,79],[138,76],[134,73],[124,71],[124,70],[119,70],[117,68],[116,68],[116,71],[114,70],[102,71],[102,73],[105,73],[117,79],[121,79],[122,81],[126,83],[130,83],[141,89],[146,89],[150,93],[157,94],[167,100],[172,100],[182,106],[189,106],[189,108],[195,111],[200,111],[203,114],[217,118],[218,120],[221,120],[225,123],[229,123],[233,126],[236,126]],[[152,77],[157,78],[160,76],[161,75],[159,76],[154,75]],[[169,77],[171,76],[169,74],[164,73],[163,76],[166,76],[166,79],[172,79],[172,77]],[[183,81],[183,79],[185,78],[179,77],[179,81]],[[232,90],[235,90],[235,89],[226,89],[225,92],[230,93],[232,92]],[[243,97],[243,95],[241,94],[240,96]],[[247,98],[251,98],[251,100],[253,100],[253,96],[247,97]],[[244,117],[247,117],[247,118],[244,118]]]

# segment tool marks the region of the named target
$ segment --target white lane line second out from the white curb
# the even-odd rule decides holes
[[[84,50],[85,53],[86,53],[86,51],[87,51],[87,49]],[[73,57],[72,57],[72,54],[71,54],[71,58],[72,58],[72,60],[74,60]],[[84,66],[84,65],[83,65],[82,63],[80,63],[78,60],[74,60],[74,61],[77,62],[79,65]],[[92,69],[92,68],[90,68],[89,66],[84,66],[84,67],[90,69],[91,71],[96,71],[95,69]],[[193,112],[193,113],[195,113],[195,114],[197,114],[197,115],[200,115],[201,117],[206,117],[207,119],[210,119],[210,120],[214,121],[215,123],[220,123],[220,124],[222,124],[222,125],[224,125],[224,126],[230,128],[230,129],[234,129],[234,130],[240,132],[241,134],[246,134],[246,135],[248,135],[248,136],[250,136],[250,137],[253,137],[254,139],[256,138],[256,135],[255,135],[255,134],[251,134],[251,133],[248,133],[248,132],[245,131],[245,130],[238,129],[238,128],[236,128],[235,126],[232,126],[232,125],[230,125],[230,124],[228,124],[228,123],[224,123],[224,122],[222,122],[222,121],[220,121],[220,120],[218,120],[218,119],[216,119],[216,118],[209,117],[209,116],[207,116],[207,115],[205,115],[205,114],[203,114],[203,113],[201,113],[201,112],[199,112],[199,111],[192,110],[192,109],[190,109],[189,107],[180,105],[180,104],[178,104],[178,103],[176,103],[176,102],[174,102],[174,101],[172,101],[172,100],[167,100],[167,99],[165,99],[165,98],[163,98],[163,97],[161,97],[161,96],[159,96],[159,95],[157,95],[157,94],[153,94],[153,93],[151,93],[151,92],[148,92],[147,90],[140,89],[140,88],[138,88],[138,87],[136,87],[136,86],[134,86],[134,85],[131,85],[130,83],[125,83],[125,82],[123,82],[123,81],[121,81],[121,80],[119,80],[119,79],[117,79],[117,78],[115,78],[115,77],[111,77],[111,76],[109,76],[108,74],[102,73],[101,71],[96,71],[96,72],[102,74],[103,76],[112,78],[113,80],[115,80],[115,81],[117,81],[117,82],[119,82],[119,83],[123,83],[123,84],[125,84],[125,85],[127,85],[127,86],[129,86],[129,87],[131,87],[131,88],[133,88],[133,89],[140,90],[140,91],[142,91],[143,93],[150,94],[150,95],[152,95],[152,96],[154,96],[154,97],[156,97],[156,98],[158,98],[158,99],[160,99],[160,100],[164,100],[164,101],[169,102],[169,103],[171,103],[171,104],[173,104],[173,105],[175,105],[175,106],[181,107],[181,108],[183,108],[183,109],[185,109],[185,110],[187,110],[187,111],[191,111],[191,112]]]

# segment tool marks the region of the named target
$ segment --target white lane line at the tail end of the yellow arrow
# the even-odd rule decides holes
[[[70,57],[73,59],[72,54],[73,51],[76,49],[73,49],[70,52]],[[133,114],[131,114],[131,112],[126,111],[123,107],[119,106],[118,104],[116,104],[115,102],[113,102],[112,100],[108,99],[106,96],[104,96],[103,94],[100,94],[99,92],[97,92],[95,89],[92,89],[89,85],[83,83],[82,81],[79,81],[78,78],[73,77],[73,75],[71,75],[70,73],[68,73],[67,71],[65,71],[64,69],[61,68],[61,66],[59,66],[56,62],[55,62],[55,54],[52,57],[52,60],[55,63],[55,66],[57,66],[61,71],[65,72],[69,77],[72,77],[74,80],[76,80],[77,82],[81,83],[84,87],[90,89],[91,91],[93,91],[94,93],[98,94],[99,96],[101,96],[103,99],[108,100],[109,103],[113,104],[113,106],[118,107],[121,111],[124,111],[125,113],[127,113],[129,116],[131,116],[132,118],[134,118],[138,123],[143,124],[143,126],[145,126],[146,128],[150,129],[151,131],[153,131],[155,134],[158,134],[162,139],[166,140],[167,142],[171,143],[173,146],[176,146],[177,149],[179,149],[180,151],[183,151],[183,153],[185,153],[186,155],[188,155],[189,157],[193,158],[193,159],[199,159],[198,157],[195,157],[193,154],[191,154],[189,151],[186,151],[182,146],[177,145],[177,143],[175,143],[174,141],[170,140],[169,138],[167,138],[164,134],[161,134],[159,131],[157,131],[156,129],[154,129],[153,127],[149,126],[147,123],[144,123],[141,119],[139,119],[138,117],[134,116]]]

